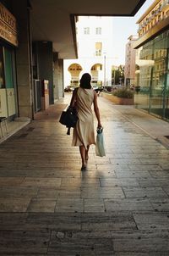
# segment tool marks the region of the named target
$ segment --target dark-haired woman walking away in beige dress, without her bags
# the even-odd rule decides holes
[[[72,146],[79,146],[82,160],[81,170],[87,169],[88,152],[91,144],[95,144],[94,118],[91,106],[94,104],[98,128],[101,125],[100,111],[97,104],[97,94],[91,87],[91,75],[82,75],[79,88],[75,88],[70,102],[70,107],[75,107],[79,120],[74,127]]]

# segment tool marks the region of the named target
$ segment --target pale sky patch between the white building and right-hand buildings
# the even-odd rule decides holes
[[[128,37],[137,35],[139,25],[136,24],[138,19],[144,14],[147,8],[150,7],[154,0],[146,0],[144,5],[139,9],[139,12],[134,17],[113,17],[113,58],[115,64],[125,64],[125,46],[128,42]]]

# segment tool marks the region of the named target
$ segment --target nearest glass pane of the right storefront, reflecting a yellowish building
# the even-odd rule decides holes
[[[150,86],[150,114],[168,119],[168,31],[153,40],[154,66]]]

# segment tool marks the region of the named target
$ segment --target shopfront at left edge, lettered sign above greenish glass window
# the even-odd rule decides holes
[[[17,114],[15,47],[18,45],[16,19],[0,3],[0,116]]]

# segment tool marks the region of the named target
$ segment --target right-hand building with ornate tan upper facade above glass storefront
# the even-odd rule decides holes
[[[135,104],[169,121],[169,1],[155,0],[138,21],[139,51]]]

